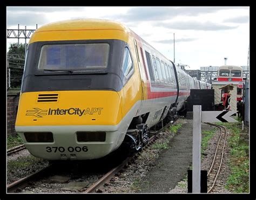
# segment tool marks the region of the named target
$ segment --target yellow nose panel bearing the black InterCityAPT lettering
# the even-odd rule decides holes
[[[38,94],[56,94],[58,102],[37,102]],[[16,126],[117,125],[122,120],[120,96],[112,91],[22,93]]]

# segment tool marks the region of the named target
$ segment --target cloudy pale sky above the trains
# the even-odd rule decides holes
[[[123,22],[140,37],[187,70],[202,66],[247,65],[250,45],[248,6],[8,6],[7,29],[36,29],[59,20],[111,19]],[[24,43],[24,39],[20,40]],[[17,39],[6,39],[10,43]]]

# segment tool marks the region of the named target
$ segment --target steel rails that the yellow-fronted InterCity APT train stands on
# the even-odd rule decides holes
[[[166,126],[162,127],[158,131],[153,132],[154,135],[150,137],[149,142],[147,143],[147,145],[144,148],[149,147],[149,144],[157,139],[158,133],[160,133],[161,130],[169,127],[172,123],[173,123],[173,121],[167,123]],[[107,173],[105,173],[104,176],[99,178],[98,181],[96,181],[95,183],[91,184],[91,186],[89,188],[87,188],[85,190],[81,190],[81,191],[84,192],[84,193],[93,193],[93,192],[100,192],[100,191],[102,191],[99,188],[103,187],[103,185],[105,183],[109,182],[111,180],[111,178],[114,177],[115,174],[117,174],[121,169],[123,169],[124,166],[127,166],[129,163],[131,163],[132,160],[135,159],[135,157],[136,157],[136,154],[134,154],[131,157],[127,157],[121,164],[119,164],[118,166],[112,168]],[[8,193],[11,193],[11,192],[16,192],[17,190],[21,190],[21,189],[25,188],[26,186],[28,186],[29,182],[36,181],[36,180],[38,180],[38,179],[40,179],[42,177],[45,177],[45,176],[49,175],[51,173],[51,170],[54,170],[54,169],[55,169],[55,166],[54,166],[54,164],[52,164],[52,165],[50,165],[50,166],[48,166],[48,167],[46,167],[46,168],[44,168],[44,169],[42,169],[42,170],[40,170],[40,171],[38,171],[36,173],[33,173],[30,176],[26,176],[24,178],[21,178],[20,180],[15,181],[15,182],[9,184],[8,187],[7,187],[7,191],[8,191]]]

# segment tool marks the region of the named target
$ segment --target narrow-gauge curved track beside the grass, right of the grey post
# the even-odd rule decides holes
[[[208,189],[207,193],[210,193],[217,181],[221,164],[223,163],[224,157],[224,150],[226,145],[226,138],[227,138],[227,129],[224,126],[215,125],[214,123],[206,123],[207,125],[215,126],[220,129],[220,136],[218,140],[218,144],[214,153],[213,161],[210,167],[210,170],[207,173],[208,183],[210,183],[211,187]]]

